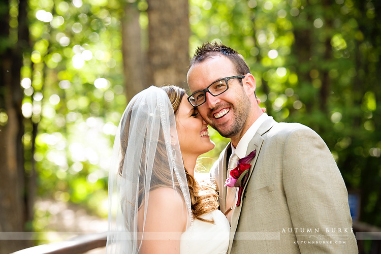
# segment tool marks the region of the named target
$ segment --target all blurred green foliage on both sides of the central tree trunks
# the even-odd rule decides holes
[[[100,204],[107,198],[111,146],[127,103],[124,3],[29,0],[28,5],[33,49],[24,52],[21,69],[26,171],[33,157],[39,196],[84,204],[105,216]],[[133,5],[146,28],[147,2]],[[11,1],[13,28],[16,7]],[[372,0],[189,1],[190,52],[213,40],[237,49],[256,78],[261,106],[277,121],[301,122],[322,136],[348,189],[361,190],[361,219],[378,226],[380,9]],[[17,40],[14,31],[0,41],[0,52]],[[0,124],[6,123],[7,113],[0,110]],[[228,142],[210,133],[216,149],[206,154],[212,158],[206,171]],[[44,223],[39,219],[34,226],[42,230]]]

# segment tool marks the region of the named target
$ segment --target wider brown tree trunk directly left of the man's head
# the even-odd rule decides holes
[[[149,84],[171,84],[187,89],[190,34],[188,1],[147,2]]]

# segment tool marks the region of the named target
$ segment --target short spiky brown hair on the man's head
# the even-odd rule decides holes
[[[224,55],[228,57],[233,62],[233,65],[238,72],[237,75],[246,75],[247,73],[250,73],[250,69],[241,54],[234,49],[217,42],[205,42],[201,46],[197,47],[192,60],[190,60],[189,69],[195,63],[202,62],[205,59],[215,55]]]

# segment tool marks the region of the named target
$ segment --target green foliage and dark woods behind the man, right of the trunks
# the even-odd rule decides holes
[[[205,41],[237,49],[267,112],[322,136],[347,188],[361,190],[360,219],[378,226],[380,9],[376,1],[191,0],[189,18],[190,52]]]

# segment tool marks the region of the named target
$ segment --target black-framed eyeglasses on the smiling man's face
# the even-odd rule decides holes
[[[206,102],[206,92],[209,92],[212,96],[219,96],[219,94],[226,92],[229,89],[228,80],[242,79],[244,77],[245,76],[239,75],[219,79],[206,87],[204,90],[190,94],[188,97],[188,102],[192,104],[193,107],[198,107]]]

